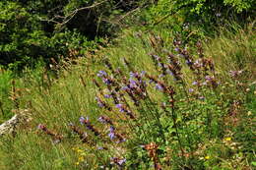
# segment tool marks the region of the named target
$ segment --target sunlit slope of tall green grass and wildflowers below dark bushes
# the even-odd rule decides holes
[[[255,111],[244,103],[255,96],[254,35],[239,28],[188,45],[165,29],[126,30],[113,45],[67,63],[58,79],[44,71],[39,80],[24,78],[21,102],[32,121],[1,139],[0,168],[252,169]]]

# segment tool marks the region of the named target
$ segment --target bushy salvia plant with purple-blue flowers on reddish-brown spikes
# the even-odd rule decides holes
[[[93,80],[98,122],[85,113],[76,122],[81,126],[69,124],[75,135],[69,138],[78,137],[88,144],[102,169],[193,169],[195,162],[203,164],[204,141],[224,137],[224,110],[235,114],[239,102],[225,102],[228,90],[221,87],[214,61],[205,56],[202,42],[192,51],[178,37],[172,44],[154,33],[149,39],[139,38],[152,47],[149,59],[154,69],[137,69],[124,58],[125,69],[121,70],[105,59],[105,67]],[[242,72],[229,74],[235,78]],[[45,125],[38,129],[54,141],[65,140]],[[106,159],[99,156],[103,152]]]

